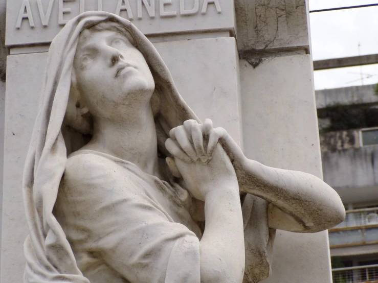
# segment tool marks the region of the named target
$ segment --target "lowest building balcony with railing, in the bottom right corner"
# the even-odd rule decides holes
[[[378,265],[333,268],[332,282],[376,283],[378,282]]]

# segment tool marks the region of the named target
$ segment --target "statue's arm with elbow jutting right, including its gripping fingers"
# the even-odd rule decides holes
[[[189,136],[192,148],[180,143],[184,132]],[[186,121],[184,126],[171,131],[171,138],[179,141],[180,156],[185,154],[195,158],[195,153],[203,161],[212,158],[216,145],[220,143],[235,168],[240,192],[253,194],[270,203],[271,228],[317,232],[339,224],[345,217],[340,197],[321,179],[304,172],[264,166],[248,159],[225,129],[212,127],[211,120],[206,120],[203,125],[193,120]]]

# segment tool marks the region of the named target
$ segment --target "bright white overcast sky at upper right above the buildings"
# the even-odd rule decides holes
[[[378,0],[309,0],[310,11]],[[378,53],[378,6],[310,14],[314,60]],[[378,83],[378,64],[315,72],[315,89]]]

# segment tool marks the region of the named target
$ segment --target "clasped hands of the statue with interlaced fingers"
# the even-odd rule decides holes
[[[182,177],[187,190],[198,199],[216,190],[236,190],[238,183],[235,170],[224,149],[218,144],[227,132],[213,128],[212,121],[204,124],[195,120],[184,122],[173,128],[165,146],[172,154],[167,163],[176,177]]]

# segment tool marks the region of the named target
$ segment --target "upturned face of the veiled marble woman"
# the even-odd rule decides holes
[[[142,53],[116,31],[84,30],[74,69],[81,99],[95,116],[149,103],[155,87]]]

